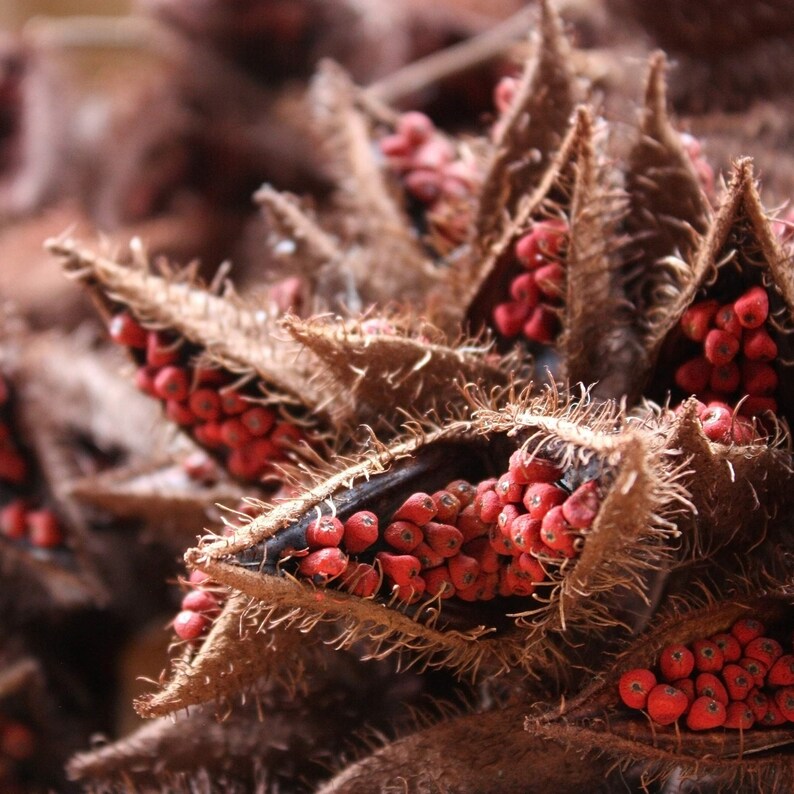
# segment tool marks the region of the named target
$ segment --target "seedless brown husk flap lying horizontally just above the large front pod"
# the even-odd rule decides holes
[[[398,425],[408,406],[420,415],[434,408],[443,412],[465,384],[506,387],[511,377],[524,380],[528,369],[517,355],[500,358],[483,341],[449,344],[437,329],[410,320],[408,328],[401,327],[400,318],[288,316],[283,324],[324,365],[328,410],[339,423]],[[368,330],[369,324],[382,324],[383,330]]]

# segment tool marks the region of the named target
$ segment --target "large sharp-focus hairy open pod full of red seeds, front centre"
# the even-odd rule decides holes
[[[303,496],[187,553],[259,605],[259,634],[241,633],[242,607],[227,608],[177,677],[201,687],[218,648],[224,665],[258,659],[272,627],[329,623],[335,645],[365,640],[368,656],[399,651],[469,676],[543,667],[553,685],[554,638],[621,624],[642,574],[670,551],[678,476],[614,406],[553,392],[373,442]]]

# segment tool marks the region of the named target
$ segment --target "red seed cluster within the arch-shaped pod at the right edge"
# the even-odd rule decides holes
[[[702,401],[700,421],[712,441],[748,443],[754,432],[747,419],[777,413],[773,362],[778,349],[768,317],[769,297],[763,287],[755,286],[733,303],[700,301],[681,318],[683,334],[702,350],[678,367],[675,383]],[[738,405],[736,419],[732,405]]]

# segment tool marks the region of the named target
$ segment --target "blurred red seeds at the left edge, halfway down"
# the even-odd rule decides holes
[[[8,384],[0,377],[0,482],[19,493],[29,486],[30,469],[11,429],[9,397]],[[0,508],[0,534],[42,549],[60,546],[64,540],[63,529],[52,510],[33,510],[21,497]]]

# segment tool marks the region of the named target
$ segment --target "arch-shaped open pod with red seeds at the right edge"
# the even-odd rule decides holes
[[[645,394],[677,405],[694,394],[711,440],[748,443],[774,433],[792,404],[794,280],[761,205],[748,160],[691,268],[681,267],[646,336]],[[735,421],[732,414],[737,413]]]

